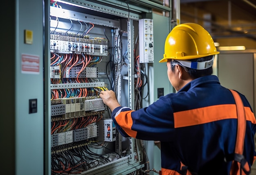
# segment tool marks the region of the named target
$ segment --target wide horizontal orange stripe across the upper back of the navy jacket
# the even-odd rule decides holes
[[[245,107],[246,119],[256,124],[254,114]],[[174,127],[188,127],[218,120],[237,118],[236,105],[215,105],[173,113]]]

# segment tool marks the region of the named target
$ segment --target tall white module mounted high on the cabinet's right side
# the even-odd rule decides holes
[[[154,62],[153,20],[139,20],[139,62]]]

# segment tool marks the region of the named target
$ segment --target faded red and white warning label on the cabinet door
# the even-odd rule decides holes
[[[21,72],[24,74],[39,74],[39,56],[22,54]]]

